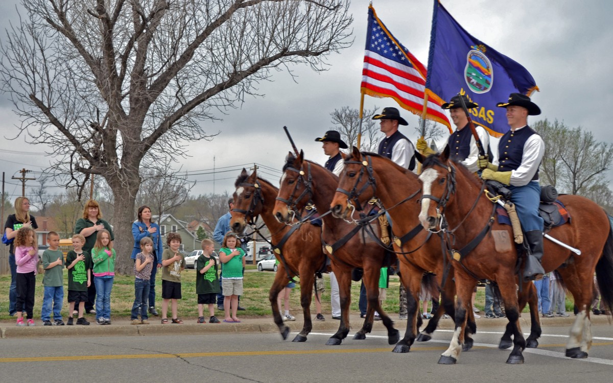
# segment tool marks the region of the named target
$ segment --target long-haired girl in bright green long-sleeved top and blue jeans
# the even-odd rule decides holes
[[[102,229],[91,249],[94,262],[94,284],[96,285],[96,322],[99,325],[111,324],[111,290],[115,279],[115,249],[109,230]]]

